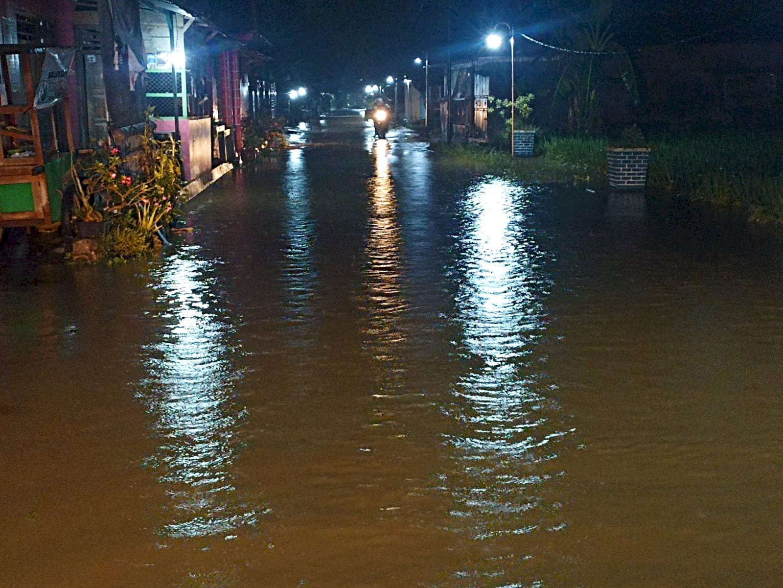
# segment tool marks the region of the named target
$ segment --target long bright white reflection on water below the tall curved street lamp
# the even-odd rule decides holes
[[[546,498],[558,475],[547,462],[557,459],[557,442],[568,431],[542,395],[536,352],[546,327],[545,254],[520,186],[484,179],[458,206],[455,321],[469,367],[447,409],[453,464],[442,480],[453,500],[449,528],[473,543],[468,551],[478,551],[454,577],[467,585],[526,586],[535,579],[514,583],[536,565],[525,536],[565,528],[560,503]]]

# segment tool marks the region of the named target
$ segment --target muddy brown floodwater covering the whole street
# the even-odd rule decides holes
[[[0,290],[0,586],[783,575],[783,241],[359,119]]]

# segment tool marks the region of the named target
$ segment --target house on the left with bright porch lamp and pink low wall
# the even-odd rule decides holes
[[[230,38],[186,0],[0,0],[0,14],[3,44],[77,49],[69,103],[81,148],[138,133],[153,106],[191,181],[235,161],[242,118],[274,105],[258,35]]]

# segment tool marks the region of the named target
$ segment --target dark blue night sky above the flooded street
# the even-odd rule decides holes
[[[328,87],[357,78],[411,75],[415,72],[410,65],[413,57],[425,50],[433,61],[445,55],[449,30],[454,51],[478,49],[486,32],[500,21],[554,42],[569,25],[586,20],[591,2],[271,0],[256,4],[211,0],[210,4],[215,20],[233,28],[249,29],[259,20],[259,32],[272,42],[270,52],[278,70],[287,72],[291,81]],[[228,8],[219,10],[222,5]],[[780,40],[781,5],[771,0],[625,0],[614,2],[612,22],[616,37],[627,49],[726,27],[705,41]],[[237,10],[237,6],[246,8]],[[524,50],[526,42],[518,41],[518,48]]]

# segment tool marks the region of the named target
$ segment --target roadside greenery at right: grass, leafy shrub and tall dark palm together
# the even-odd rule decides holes
[[[557,61],[559,69],[557,77],[551,78],[551,87],[535,101],[532,94],[525,94],[529,88],[524,81],[518,82],[520,96],[530,96],[527,110],[515,109],[521,115],[518,118],[539,123],[533,157],[511,157],[511,103],[490,96],[488,145],[434,143],[439,161],[524,182],[601,189],[608,187],[608,146],[649,147],[646,186],[652,196],[704,200],[745,211],[753,221],[783,224],[783,137],[779,130],[731,127],[728,113],[677,124],[677,115],[682,113],[675,105],[669,121],[648,121],[658,133],[648,140],[632,124],[637,121],[644,126],[643,88],[637,84],[632,53],[615,37],[618,15],[614,5],[612,0],[590,2],[583,20],[570,20],[555,35],[554,44],[564,48],[564,56]],[[623,108],[626,115],[618,117]],[[677,131],[664,134],[664,128]],[[702,130],[683,130],[690,128]]]

